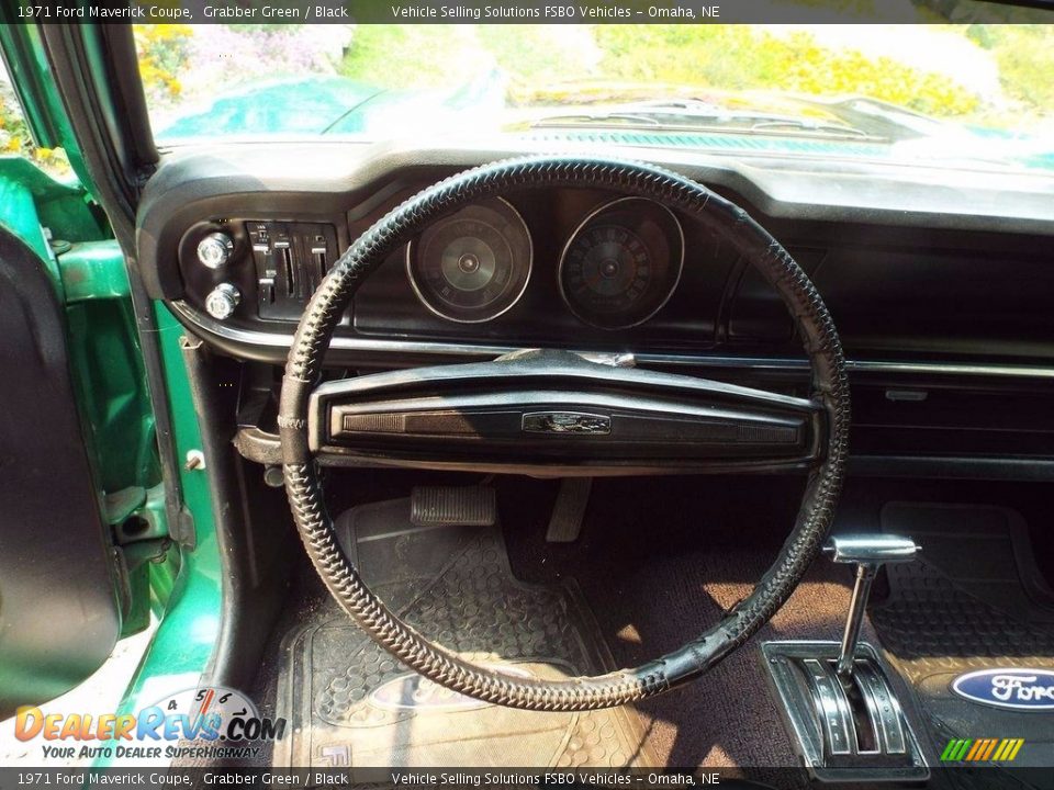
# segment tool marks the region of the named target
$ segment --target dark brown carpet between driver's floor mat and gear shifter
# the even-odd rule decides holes
[[[584,585],[621,664],[654,657],[716,622],[767,563],[759,552],[699,552],[642,564]],[[792,600],[744,648],[691,686],[637,706],[651,745],[670,766],[788,766],[796,760],[762,664],[769,640],[838,639],[844,573],[814,568]]]

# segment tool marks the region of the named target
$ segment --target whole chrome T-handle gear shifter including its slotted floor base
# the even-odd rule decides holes
[[[929,769],[878,654],[860,642],[879,568],[911,562],[919,546],[909,538],[859,534],[832,538],[823,551],[836,563],[856,566],[841,644],[769,642],[762,647],[788,730],[817,779],[924,779]]]

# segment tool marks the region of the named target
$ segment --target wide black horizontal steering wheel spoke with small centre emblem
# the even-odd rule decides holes
[[[807,466],[825,424],[817,400],[563,351],[330,382],[309,415],[316,453],[542,476]]]

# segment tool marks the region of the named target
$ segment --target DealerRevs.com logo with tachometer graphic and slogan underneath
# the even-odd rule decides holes
[[[248,757],[259,752],[254,742],[279,740],[284,732],[284,719],[260,716],[250,699],[221,686],[187,689],[137,713],[20,708],[14,724],[15,737],[41,738],[43,756],[58,759]]]

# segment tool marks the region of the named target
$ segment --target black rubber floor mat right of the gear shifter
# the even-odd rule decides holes
[[[871,618],[890,664],[919,697],[931,754],[950,738],[1018,737],[1024,745],[1014,767],[1049,768],[1050,711],[994,708],[951,690],[971,670],[1054,669],[1049,590],[1014,516],[1001,508],[888,505],[884,531],[911,535],[922,553],[915,563],[887,566],[889,595]],[[948,778],[963,788],[1022,786],[1000,769]]]

